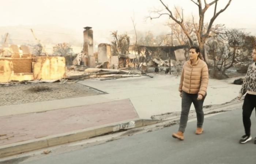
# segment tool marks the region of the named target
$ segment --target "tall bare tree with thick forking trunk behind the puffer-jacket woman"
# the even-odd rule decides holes
[[[161,2],[161,4],[165,7],[165,12],[163,12],[163,10],[161,11],[153,11],[155,14],[157,14],[157,16],[155,17],[151,17],[150,16],[150,19],[157,19],[163,15],[167,15],[169,16],[169,18],[171,18],[172,20],[174,20],[174,22],[176,22],[178,25],[180,25],[180,27],[182,28],[183,32],[185,33],[185,35],[188,37],[188,40],[189,40],[189,43],[190,44],[193,44],[193,39],[191,37],[191,34],[189,34],[189,31],[187,29],[187,27],[185,26],[185,22],[184,22],[184,16],[183,16],[183,11],[179,14],[178,14],[178,19],[176,17],[174,17],[173,15],[173,12],[169,9],[169,7],[163,3],[162,0],[159,0]],[[205,47],[204,47],[204,44],[206,43],[206,40],[208,38],[211,37],[211,28],[213,26],[213,23],[215,21],[215,19],[223,12],[227,9],[227,7],[230,5],[231,1],[232,0],[229,0],[228,3],[226,4],[226,6],[219,10],[217,12],[217,3],[219,0],[213,0],[211,3],[207,3],[206,0],[204,0],[204,7],[203,7],[203,4],[202,4],[202,1],[201,0],[197,0],[197,1],[194,1],[194,0],[190,0],[192,1],[192,3],[194,3],[195,5],[197,5],[198,7],[198,14],[199,14],[199,23],[198,23],[198,26],[197,26],[197,29],[196,29],[196,37],[197,37],[197,42],[198,42],[198,45],[199,45],[199,48],[201,50],[201,55],[200,58],[203,58],[207,63],[207,55],[204,53],[204,50],[205,50]],[[210,19],[210,22],[207,26],[207,30],[206,32],[204,32],[204,15],[207,11],[207,9],[212,6],[212,5],[215,5],[215,8],[214,8],[214,13],[213,13],[213,16],[212,18]],[[195,24],[195,21],[193,19],[193,22]]]

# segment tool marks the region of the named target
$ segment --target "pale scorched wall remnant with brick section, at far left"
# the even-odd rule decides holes
[[[65,77],[64,57],[31,56],[29,51],[22,52],[17,47],[11,45],[11,55],[0,58],[0,82],[58,80]],[[24,46],[22,48],[24,49]]]

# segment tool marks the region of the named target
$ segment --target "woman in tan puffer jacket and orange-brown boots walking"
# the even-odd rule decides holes
[[[183,133],[187,126],[188,113],[192,102],[196,109],[196,134],[202,134],[204,122],[203,102],[206,97],[208,79],[208,67],[207,64],[200,59],[200,49],[197,46],[192,46],[189,49],[189,60],[184,63],[182,68],[179,86],[180,97],[182,98],[180,127],[178,132],[172,134],[174,138],[184,140]]]

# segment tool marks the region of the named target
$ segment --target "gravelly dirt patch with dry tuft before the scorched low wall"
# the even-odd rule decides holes
[[[42,91],[35,91],[41,89]],[[0,106],[103,94],[79,83],[0,86]]]

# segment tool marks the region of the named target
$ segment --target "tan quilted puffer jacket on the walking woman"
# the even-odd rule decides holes
[[[203,60],[197,59],[193,65],[191,60],[188,60],[182,68],[179,91],[183,90],[186,93],[198,93],[204,96],[208,86],[208,79],[208,67]]]

